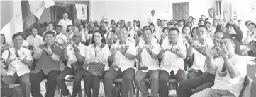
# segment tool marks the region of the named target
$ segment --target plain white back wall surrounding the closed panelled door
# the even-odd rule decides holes
[[[157,17],[172,19],[172,3],[189,2],[189,15],[198,19],[201,15],[208,17],[208,9],[216,8],[214,0],[160,0],[160,1],[90,1],[91,20],[140,20],[142,25],[148,25],[150,11],[154,9]],[[107,9],[107,10],[106,10]],[[107,17],[104,18],[104,15]]]

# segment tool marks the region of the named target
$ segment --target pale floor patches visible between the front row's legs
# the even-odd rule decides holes
[[[67,88],[69,89],[70,93],[72,93],[72,84],[73,84],[72,82],[67,83]],[[99,89],[99,97],[105,97],[103,83],[101,82],[100,85],[101,86]],[[45,83],[42,82],[40,84],[40,86],[41,86],[41,93],[42,93],[43,97],[45,97]],[[82,86],[82,96],[84,97],[84,82],[83,81],[81,82],[81,86]],[[150,91],[150,89],[149,89],[149,91]],[[175,94],[176,94],[176,91],[174,91],[174,90],[169,91],[170,97],[174,96]],[[55,97],[60,97],[60,94],[57,94],[57,91],[55,93]],[[135,97],[135,95],[133,95],[133,97]],[[141,97],[141,93],[140,93],[140,97]]]

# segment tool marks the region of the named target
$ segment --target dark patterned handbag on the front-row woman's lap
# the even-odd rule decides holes
[[[102,63],[84,63],[84,75],[99,75],[102,76],[105,65]]]

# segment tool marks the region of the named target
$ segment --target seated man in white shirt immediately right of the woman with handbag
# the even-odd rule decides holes
[[[113,65],[104,75],[104,88],[107,97],[113,97],[113,80],[119,77],[123,78],[121,97],[125,97],[135,74],[135,44],[127,41],[127,27],[121,27],[117,34],[120,41],[111,46],[111,56],[109,56],[110,60],[113,60]]]

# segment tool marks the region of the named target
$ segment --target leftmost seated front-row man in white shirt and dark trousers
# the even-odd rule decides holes
[[[6,84],[21,83],[23,97],[30,97],[30,69],[33,58],[31,52],[27,48],[22,47],[23,34],[14,34],[13,47],[3,52],[1,58],[8,64],[7,75],[3,78]]]

